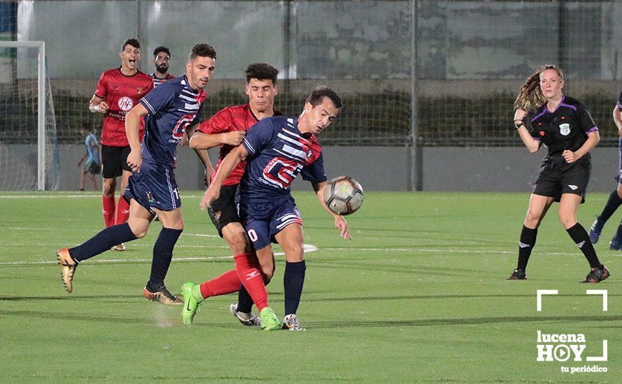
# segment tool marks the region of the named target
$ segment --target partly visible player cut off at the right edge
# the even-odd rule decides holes
[[[618,103],[614,108],[614,123],[618,127],[618,151],[619,151],[619,170],[616,179],[618,180],[617,188],[609,194],[609,199],[605,203],[605,207],[602,208],[602,212],[600,215],[596,216],[594,223],[592,223],[592,227],[590,228],[590,241],[593,244],[598,242],[600,238],[600,233],[602,232],[602,227],[605,226],[607,220],[616,212],[616,209],[622,204],[622,93],[618,97]],[[609,249],[613,249],[614,251],[622,251],[622,221],[620,221],[620,225],[618,226],[618,230],[616,234],[612,238],[612,241],[609,242]]]

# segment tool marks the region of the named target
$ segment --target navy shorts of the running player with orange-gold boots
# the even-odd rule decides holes
[[[132,172],[123,196],[127,201],[136,200],[152,214],[152,208],[172,211],[182,206],[173,169],[144,161],[140,172]]]

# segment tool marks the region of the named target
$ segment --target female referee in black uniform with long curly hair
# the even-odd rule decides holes
[[[523,84],[514,102],[514,126],[527,149],[535,153],[544,144],[549,153],[542,159],[529,200],[519,242],[519,262],[509,280],[526,279],[537,228],[553,202],[560,203],[559,219],[590,264],[584,283],[598,283],[609,277],[588,233],[577,223],[577,209],[585,201],[590,178],[589,152],[600,141],[600,135],[588,110],[580,101],[564,96],[563,87],[561,68],[542,66]],[[527,110],[534,109],[533,117],[527,119]]]

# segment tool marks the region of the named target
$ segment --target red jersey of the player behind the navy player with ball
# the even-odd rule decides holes
[[[281,112],[277,110],[273,111],[275,116],[281,115]],[[212,116],[211,119],[203,121],[203,123],[198,126],[198,130],[203,133],[207,133],[208,135],[233,131],[248,131],[248,128],[254,126],[257,121],[259,120],[255,117],[255,115],[253,115],[253,112],[250,109],[250,104],[246,103],[244,105],[236,105],[235,107],[227,107],[219,110],[216,115]],[[224,157],[229,154],[233,148],[235,148],[233,145],[220,145],[218,163],[214,168],[215,172],[212,174],[210,182],[214,179],[216,171],[218,170],[218,167],[220,166],[220,163],[222,163]],[[222,185],[226,186],[240,183],[240,179],[242,178],[242,175],[244,175],[245,169],[246,161],[243,161],[236,169],[233,170],[233,172],[231,172],[231,175],[224,180]]]

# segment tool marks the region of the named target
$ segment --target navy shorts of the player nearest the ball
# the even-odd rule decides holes
[[[277,242],[275,235],[289,224],[303,225],[301,212],[291,197],[276,202],[240,201],[240,218],[254,249]]]

